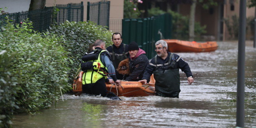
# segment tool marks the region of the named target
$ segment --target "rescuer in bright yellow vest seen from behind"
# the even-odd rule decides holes
[[[82,75],[83,93],[105,97],[107,94],[105,82],[120,84],[110,58],[111,56],[106,51],[105,42],[96,40],[95,50],[86,53],[80,64],[82,71],[84,71]],[[112,79],[108,79],[107,74],[110,74]]]

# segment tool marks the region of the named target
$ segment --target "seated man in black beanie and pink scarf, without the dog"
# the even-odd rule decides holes
[[[124,75],[126,81],[139,81],[143,77],[145,68],[148,66],[148,57],[146,52],[139,48],[136,42],[131,42],[128,46],[130,54],[130,75]]]

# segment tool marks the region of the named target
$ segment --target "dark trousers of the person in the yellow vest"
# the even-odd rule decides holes
[[[106,88],[104,77],[102,77],[101,79],[99,79],[97,82],[93,84],[83,84],[82,90],[83,90],[83,93],[101,95],[102,97],[106,97],[107,88]]]

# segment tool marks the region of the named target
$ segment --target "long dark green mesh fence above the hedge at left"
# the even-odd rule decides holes
[[[81,3],[70,4],[57,4],[57,8],[60,9],[57,13],[55,21],[57,24],[68,21],[83,21],[84,19],[84,5]],[[38,9],[33,11],[22,11],[17,13],[10,13],[6,15],[0,15],[0,28],[5,23],[5,17],[13,20],[13,23],[17,24],[29,18],[33,22],[33,30],[45,31],[49,29],[53,24],[53,7],[44,7],[44,9]]]

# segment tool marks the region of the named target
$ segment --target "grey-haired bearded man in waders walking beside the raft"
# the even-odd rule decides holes
[[[181,91],[179,68],[188,77],[188,84],[192,84],[194,79],[190,67],[179,55],[167,51],[166,41],[159,40],[155,43],[155,46],[157,56],[150,61],[142,80],[139,82],[146,84],[154,73],[156,95],[179,98],[179,92]]]

